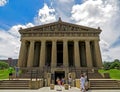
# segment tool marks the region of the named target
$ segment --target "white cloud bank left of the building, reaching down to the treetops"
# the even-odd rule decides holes
[[[26,25],[15,25],[8,31],[0,30],[0,59],[18,58],[20,49],[20,27],[33,27],[32,23]]]

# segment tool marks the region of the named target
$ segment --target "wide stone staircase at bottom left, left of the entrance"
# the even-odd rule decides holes
[[[0,89],[30,89],[29,80],[1,80]]]

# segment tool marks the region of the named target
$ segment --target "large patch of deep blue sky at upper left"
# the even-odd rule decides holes
[[[17,24],[33,22],[35,14],[43,7],[43,0],[9,0],[0,7],[0,27],[8,28]]]

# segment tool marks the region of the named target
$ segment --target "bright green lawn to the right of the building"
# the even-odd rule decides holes
[[[99,70],[100,73],[109,73],[111,79],[120,79],[120,70],[110,69],[110,70]]]

